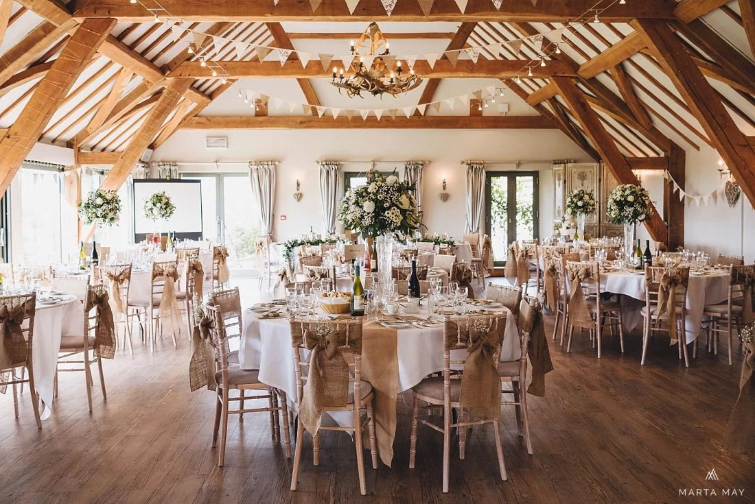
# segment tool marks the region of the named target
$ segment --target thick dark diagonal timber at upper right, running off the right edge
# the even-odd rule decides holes
[[[755,204],[755,149],[739,131],[720,97],[700,72],[679,37],[666,23],[633,21],[632,26],[646,39],[655,59],[661,63],[676,90],[713,142],[726,166],[732,171],[750,204]]]

